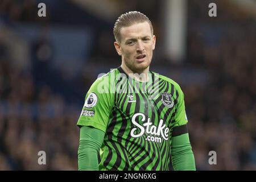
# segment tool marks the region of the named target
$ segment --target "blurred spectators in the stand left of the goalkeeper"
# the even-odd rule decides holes
[[[0,78],[0,169],[76,169],[80,111],[5,60]],[[39,151],[47,165],[38,164]]]

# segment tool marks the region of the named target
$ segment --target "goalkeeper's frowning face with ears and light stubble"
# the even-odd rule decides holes
[[[120,30],[119,43],[115,42],[118,55],[131,71],[143,72],[151,63],[155,49],[155,35],[152,36],[148,22],[135,23]]]

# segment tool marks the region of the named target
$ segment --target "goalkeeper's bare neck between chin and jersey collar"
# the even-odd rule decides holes
[[[123,71],[131,78],[134,78],[137,81],[141,81],[141,82],[147,82],[148,81],[148,71],[149,71],[149,67],[144,69],[141,72],[135,72],[132,71],[130,68],[126,67],[125,64],[121,64],[121,68],[123,69]]]

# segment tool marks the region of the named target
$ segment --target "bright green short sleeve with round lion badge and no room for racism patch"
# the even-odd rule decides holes
[[[98,78],[90,87],[77,126],[92,126],[106,131],[113,106],[113,96],[108,92],[109,81],[106,78]]]

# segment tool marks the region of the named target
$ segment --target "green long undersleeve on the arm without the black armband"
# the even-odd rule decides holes
[[[82,126],[78,150],[79,170],[98,170],[98,152],[105,133],[99,129]]]

